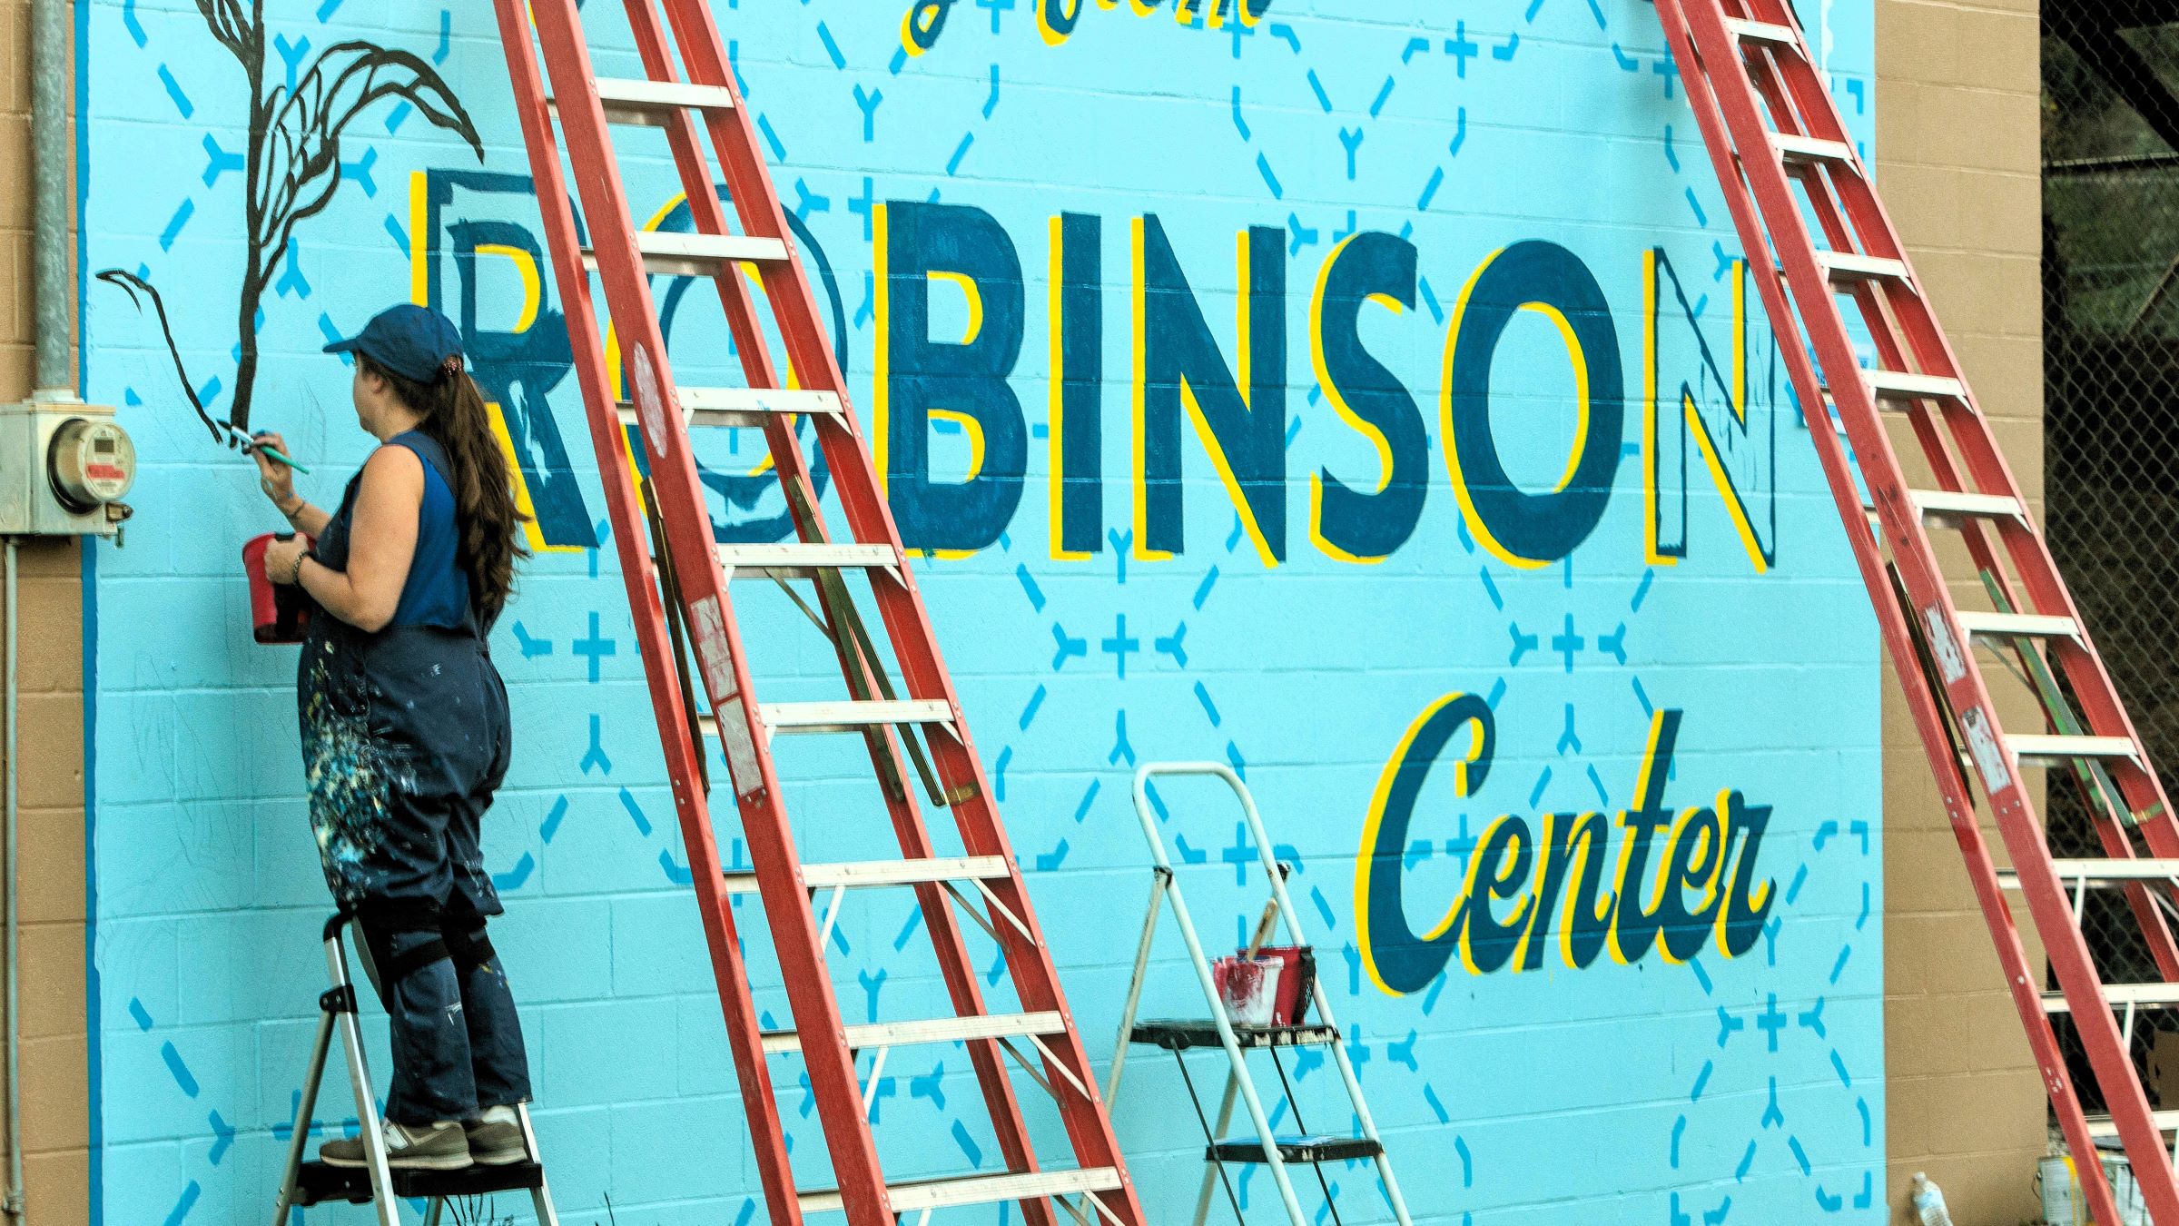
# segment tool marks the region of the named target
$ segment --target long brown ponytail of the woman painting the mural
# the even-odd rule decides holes
[[[423,414],[416,423],[425,436],[447,449],[442,473],[453,491],[453,517],[462,534],[462,569],[477,620],[488,628],[514,591],[514,558],[529,550],[516,539],[516,526],[529,517],[514,508],[512,473],[506,452],[492,436],[490,410],[477,380],[462,371],[460,358],[449,358],[429,384],[397,375],[357,353],[366,371],[384,377],[401,404]]]

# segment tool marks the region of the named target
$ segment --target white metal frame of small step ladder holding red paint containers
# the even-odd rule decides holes
[[[1240,1097],[1249,1113],[1249,1123],[1255,1128],[1262,1161],[1270,1167],[1270,1180],[1279,1189],[1279,1204],[1286,1211],[1286,1219],[1292,1226],[1312,1226],[1318,1222],[1301,1211],[1301,1200],[1294,1195],[1294,1182],[1288,1174],[1288,1163],[1279,1156],[1279,1139],[1270,1126],[1270,1117],[1264,1110],[1262,1095],[1255,1093],[1255,1080],[1249,1075],[1249,1062],[1242,1051],[1242,1036],[1235,1032],[1233,1021],[1227,1017],[1225,1003],[1218,999],[1218,982],[1212,975],[1209,958],[1203,953],[1203,938],[1196,934],[1196,923],[1188,914],[1188,899],[1181,894],[1181,881],[1172,873],[1172,857],[1166,855],[1166,836],[1157,829],[1157,814],[1151,807],[1151,779],[1157,777],[1209,777],[1222,781],[1233,790],[1240,801],[1242,818],[1249,822],[1249,838],[1255,842],[1257,864],[1264,868],[1264,877],[1270,881],[1270,899],[1279,923],[1286,927],[1286,938],[1294,945],[1310,945],[1307,931],[1301,927],[1301,912],[1294,910],[1294,899],[1286,892],[1286,866],[1270,855],[1270,836],[1264,831],[1264,818],[1255,809],[1255,796],[1249,794],[1249,785],[1242,783],[1240,774],[1222,761],[1146,761],[1135,770],[1135,818],[1142,822],[1142,838],[1151,844],[1151,870],[1155,881],[1151,886],[1151,910],[1142,923],[1142,940],[1135,947],[1135,973],[1129,979],[1127,1003],[1120,1010],[1120,1038],[1113,1043],[1111,1069],[1105,1075],[1105,1099],[1118,1102],[1120,1097],[1120,1073],[1127,1067],[1127,1051],[1135,1036],[1135,1010],[1142,1003],[1142,986],[1151,969],[1151,945],[1157,936],[1157,921],[1164,916],[1164,905],[1172,903],[1172,918],[1181,929],[1181,940],[1188,945],[1188,960],[1194,964],[1196,982],[1203,986],[1203,999],[1209,1006],[1209,1023],[1216,1027],[1218,1045],[1227,1054],[1227,1084],[1225,1095],[1218,1106],[1218,1123],[1209,1126],[1205,1121],[1205,1132],[1212,1139],[1212,1152],[1205,1161],[1212,1169],[1203,1171],[1203,1187],[1196,1193],[1196,1213],[1192,1217],[1194,1226],[1203,1226],[1209,1215],[1212,1191],[1216,1180],[1222,1178],[1225,1158],[1218,1156],[1218,1145],[1222,1132],[1233,1115],[1233,1099]],[[1268,936],[1262,934],[1259,936]],[[1399,1193],[1399,1180],[1392,1178],[1392,1158],[1384,1150],[1384,1139],[1377,1134],[1377,1121],[1368,1113],[1368,1102],[1362,1099],[1362,1082],[1355,1078],[1353,1062],[1347,1058],[1347,1038],[1340,1034],[1338,1019],[1331,1017],[1331,997],[1325,995],[1323,975],[1312,984],[1310,1003],[1316,1008],[1318,1021],[1314,1025],[1294,1025],[1288,1030],[1329,1030],[1323,1038],[1301,1038],[1292,1045],[1323,1045],[1331,1049],[1331,1067],[1340,1073],[1340,1084],[1347,1089],[1347,1099],[1353,1106],[1355,1123],[1360,1128],[1360,1139],[1366,1141],[1375,1152],[1371,1161],[1377,1165],[1377,1178],[1384,1182],[1386,1204],[1392,1206],[1392,1217],[1399,1226],[1410,1226],[1408,1200]],[[1251,1043],[1255,1047],[1257,1043]],[[1266,1043],[1270,1045],[1270,1043]],[[1277,1043],[1288,1045],[1288,1043]],[[1275,1045],[1270,1045],[1275,1047]],[[1179,1051],[1174,1051],[1179,1056]],[[1183,1065],[1185,1071],[1185,1065]],[[1292,1091],[1288,1091],[1292,1093]],[[1290,1106],[1297,1108],[1299,1104]],[[1201,1104],[1196,1108],[1201,1113]],[[1320,1169],[1318,1169],[1320,1174]],[[1227,1189],[1231,1195],[1231,1187]],[[1329,1202],[1329,1189],[1325,1189]],[[1235,1213],[1240,1206],[1235,1202]],[[1334,1219],[1338,1209],[1331,1206]]]

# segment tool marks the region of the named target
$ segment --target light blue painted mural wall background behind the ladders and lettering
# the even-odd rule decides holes
[[[1074,37],[1046,46],[1031,0],[961,2],[915,59],[900,55],[898,0],[728,0],[717,17],[804,247],[830,268],[828,301],[848,325],[843,358],[865,421],[878,410],[880,338],[872,203],[935,199],[957,225],[981,209],[1020,260],[1024,286],[985,286],[985,323],[1000,327],[1020,292],[1011,388],[1026,465],[981,473],[1022,480],[1018,506],[994,524],[996,543],[924,561],[920,574],[1092,1054],[1109,1058],[1148,890],[1129,768],[1225,759],[1246,768],[1277,840],[1299,860],[1299,899],[1419,1222],[1883,1222],[1876,637],[1806,428],[1782,390],[1767,393],[1761,318],[1748,325],[1748,434],[1726,425],[1739,244],[1654,9],[1384,0],[1358,15],[1331,0],[1273,0],[1264,26],[1242,35],[1201,20],[1181,26],[1170,9],[1083,9]],[[1865,142],[1870,4],[1804,9]],[[625,48],[617,7],[599,0],[591,11],[595,41]],[[449,310],[473,286],[479,334],[543,340],[543,327],[506,338],[523,314],[519,264],[455,251],[464,236],[534,236],[536,209],[508,190],[521,188],[527,164],[484,4],[272,0],[264,37],[268,94],[296,74],[307,83],[314,57],[344,39],[414,52],[484,144],[479,166],[418,111],[421,94],[364,107],[338,140],[338,185],[318,179],[331,185],[327,209],[296,227],[264,292],[251,421],[288,434],[316,467],[305,491],[331,504],[366,438],[346,406],[346,369],[318,356],[325,334],[405,301],[421,271],[425,295]],[[625,50],[599,57],[630,70]],[[96,0],[87,120],[89,268],[133,271],[163,292],[187,375],[224,417],[248,251],[246,76],[198,7]],[[673,190],[662,144],[647,140],[625,146],[643,216]],[[898,236],[906,207],[887,212]],[[1083,561],[1055,558],[1050,543],[1048,271],[1050,218],[1061,212],[1103,227],[1103,524],[1100,550]],[[1270,303],[1288,349],[1283,469],[1264,454],[1264,467],[1283,473],[1277,567],[1242,530],[1194,430],[1179,452],[1185,550],[1133,556],[1129,231],[1142,214],[1170,238],[1227,362],[1235,233],[1283,231],[1286,297]],[[464,229],[479,223],[514,229]],[[1327,469],[1360,493],[1379,480],[1377,449],[1325,401],[1310,360],[1312,290],[1353,231],[1412,242],[1419,268],[1412,310],[1360,310],[1362,342],[1414,397],[1427,441],[1412,469],[1427,478],[1421,515],[1377,565],[1340,561],[1310,532],[1314,473]],[[1575,532],[1571,556],[1543,567],[1508,565],[1477,543],[1440,421],[1462,286],[1499,249],[1532,242],[1565,249],[1593,277],[1608,314],[1575,323],[1606,340],[1584,366],[1597,373],[1617,356],[1623,371],[1621,428],[1597,430],[1612,408],[1602,401],[1588,417],[1610,473],[1591,495],[1602,510]],[[1667,480],[1656,510],[1645,497],[1652,251],[1669,271],[1654,308],[1665,388],[1656,458],[1667,478],[1678,473],[1673,388],[1684,382],[1772,554],[1763,569],[1700,454],[1687,458],[1684,537],[1671,521],[1678,486]],[[889,251],[896,268],[913,255]],[[1257,273],[1262,286],[1266,268]],[[1512,281],[1517,299],[1567,301],[1565,290]],[[549,279],[545,297],[551,310]],[[717,308],[699,301],[675,316],[671,356],[682,382],[719,382],[723,329]],[[915,321],[896,312],[889,323],[906,338]],[[950,342],[963,325],[963,299],[941,286],[924,336]],[[1713,384],[1697,336],[1715,356]],[[294,650],[251,641],[238,567],[242,539],[275,528],[277,515],[251,467],[190,412],[153,314],[115,286],[94,286],[87,338],[89,395],[124,406],[144,456],[126,548],[100,545],[96,558],[94,1202],[115,1226],[257,1222],[322,988],[316,927],[327,912],[303,818]],[[543,401],[516,406],[510,423],[547,543],[577,543],[529,563],[495,637],[519,750],[488,822],[510,910],[495,938],[525,1003],[562,1213],[604,1222],[610,1193],[619,1222],[747,1222],[754,1165],[695,910],[675,879],[686,860],[612,550],[580,548],[604,510],[573,380],[549,362],[512,369],[482,345],[479,371],[519,380]],[[1068,366],[1090,353],[1072,351]],[[1543,312],[1508,325],[1488,388],[1512,482],[1547,495],[1578,414],[1567,345]],[[560,454],[547,445],[553,428]],[[1464,438],[1473,447],[1473,434]],[[756,447],[754,436],[715,438],[704,458],[719,473],[747,473]],[[959,423],[935,423],[930,456],[935,480],[965,473]],[[732,493],[739,502],[715,506],[728,534],[765,539],[778,495],[763,480]],[[1571,502],[1551,502],[1538,524],[1565,528]],[[1684,539],[1673,565],[1652,561],[1654,517],[1665,519],[1665,545]],[[967,530],[959,519],[939,528]],[[754,591],[741,615],[765,698],[835,692],[821,639],[778,593]],[[1752,877],[1767,884],[1761,936],[1737,958],[1711,942],[1687,964],[1652,951],[1575,969],[1547,949],[1523,973],[1471,973],[1447,947],[1384,947],[1373,949],[1379,969],[1405,955],[1427,971],[1451,955],[1451,971],[1405,995],[1373,984],[1358,938],[1358,851],[1403,735],[1451,694],[1488,698],[1495,755],[1473,796],[1456,794],[1449,770],[1429,774],[1403,870],[1390,868],[1399,849],[1386,849],[1379,888],[1401,892],[1416,929],[1462,897],[1475,840],[1504,814],[1602,809],[1617,846],[1652,718],[1680,711],[1665,805],[1711,805],[1739,790],[1774,809]],[[1469,737],[1456,733],[1453,757]],[[800,781],[793,803],[811,857],[882,853],[874,792],[848,783],[856,755],[798,744],[784,764]],[[1168,788],[1164,798],[1168,840],[1203,857],[1185,875],[1196,912],[1225,940],[1255,905],[1233,888],[1222,851],[1235,846],[1235,816],[1209,790]],[[850,1014],[941,1008],[909,912],[906,897],[848,910],[845,951],[832,964]],[[741,916],[758,1001],[784,1019],[758,916]],[[1201,1008],[1174,958],[1161,947],[1151,1012]],[[896,1174],[994,1161],[959,1049],[902,1051],[885,1073],[880,1137]],[[782,1060],[774,1075],[798,1169],[824,1182],[815,1119],[798,1113],[800,1069]],[[1303,1106],[1323,1128],[1344,1121],[1329,1106],[1331,1082],[1320,1067],[1303,1069]],[[1179,1219],[1201,1171],[1177,1093],[1170,1062],[1144,1058],[1116,1108],[1159,1219]],[[333,1130],[349,1115],[336,1104],[320,1113]],[[1039,1134],[1046,1152],[1063,1147],[1048,1115]],[[1384,1217],[1366,1169],[1331,1178],[1349,1222]],[[1273,1209],[1262,1176],[1244,1187],[1257,1213]]]

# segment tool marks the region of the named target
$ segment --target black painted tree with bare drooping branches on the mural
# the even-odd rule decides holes
[[[181,377],[183,395],[196,408],[214,441],[235,445],[251,430],[251,395],[257,384],[257,308],[268,286],[272,286],[281,260],[290,257],[290,240],[296,225],[325,212],[340,190],[340,133],[364,111],[381,100],[399,100],[414,107],[434,127],[458,133],[468,148],[484,159],[484,142],[468,120],[447,81],[423,59],[370,41],[344,41],[325,48],[309,68],[294,79],[294,87],[275,83],[266,87],[266,22],[264,0],[196,0],[205,15],[205,26],[229,55],[242,65],[251,85],[246,194],[242,201],[244,220],[244,271],[242,292],[235,301],[235,334],[240,358],[235,362],[235,393],[227,410],[227,421],[218,421],[196,395],[196,382],[183,369],[181,349],[168,323],[166,303],[150,281],[122,268],[98,273],[129,292],[142,308],[150,305],[166,336],[168,353],[174,358],[174,373]]]

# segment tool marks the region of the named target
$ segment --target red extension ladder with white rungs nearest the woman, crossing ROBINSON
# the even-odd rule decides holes
[[[593,74],[575,0],[495,0],[495,9],[771,1222],[787,1226],[811,1213],[845,1213],[854,1226],[893,1226],[896,1217],[920,1219],[917,1213],[928,1217],[933,1209],[1011,1202],[1031,1226],[1055,1226],[1055,1209],[1083,1226],[1098,1226],[1100,1219],[1142,1226],[1142,1206],[1120,1163],[1090,1058],[1028,910],[1020,868],[967,740],[961,702],[939,661],[878,473],[850,412],[839,362],[826,342],[808,277],[758,155],[756,129],[734,89],[710,4],[662,0],[660,22],[658,0],[625,0],[645,68],[641,81],[599,81]],[[551,74],[551,96],[538,72],[540,52]],[[608,124],[665,129],[695,233],[636,229]],[[713,168],[699,144],[706,133],[719,157],[739,231],[730,229],[719,203]],[[577,238],[569,172],[560,159],[562,142],[593,249],[582,249]],[[625,404],[608,386],[588,268],[599,273],[623,353],[630,390]],[[787,369],[795,375],[793,388],[767,347],[743,284],[745,268],[754,268],[763,281],[763,299],[784,340]],[[708,277],[717,286],[747,386],[673,384],[649,275]],[[795,438],[798,419],[811,421],[824,449],[845,513],[845,539],[828,537],[819,517],[808,460]],[[763,428],[800,543],[715,543],[691,454],[691,425]],[[641,447],[647,458],[649,497],[638,500],[623,447]],[[656,515],[652,532],[660,539],[658,556],[647,548],[647,513]],[[848,593],[850,574],[865,578],[874,591],[900,663],[898,692]],[[747,576],[782,585],[789,578],[815,580],[817,609],[804,611],[832,639],[848,700],[756,700],[750,644],[739,633],[728,598],[728,580]],[[669,617],[686,624],[693,639],[695,672],[710,700],[710,716],[695,711],[693,687],[684,681],[680,624],[669,626]],[[774,740],[789,733],[865,740],[902,860],[804,864],[798,857],[771,759]],[[706,796],[704,735],[721,740],[754,873],[726,873],[719,864]],[[917,744],[917,735],[926,748]],[[935,803],[952,809],[967,855],[939,857],[933,851],[920,803],[906,785],[904,753]],[[957,1017],[872,1025],[841,1021],[824,942],[841,892],[850,888],[915,890]],[[758,1027],[737,945],[730,901],[752,892],[763,899],[793,1006],[795,1027],[787,1032]],[[824,918],[815,908],[817,892],[830,899]],[[985,1012],[954,903],[998,940],[1022,1012]],[[1005,1171],[887,1182],[865,1097],[876,1091],[878,1067],[872,1067],[865,1091],[859,1056],[874,1051],[882,1065],[891,1047],[939,1043],[967,1045]],[[800,1056],[808,1067],[832,1158],[832,1189],[802,1189],[793,1178],[765,1069],[771,1054]],[[1074,1165],[1039,1165],[1015,1102],[1007,1056],[1057,1102]]]

